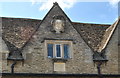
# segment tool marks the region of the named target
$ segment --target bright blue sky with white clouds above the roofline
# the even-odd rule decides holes
[[[43,19],[55,1],[73,22],[113,24],[118,18],[119,0],[1,0],[0,16]]]

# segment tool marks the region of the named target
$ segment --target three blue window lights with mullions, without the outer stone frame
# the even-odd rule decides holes
[[[48,58],[70,58],[69,44],[47,44]]]

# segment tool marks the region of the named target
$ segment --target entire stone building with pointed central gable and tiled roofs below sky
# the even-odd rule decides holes
[[[119,19],[112,25],[72,22],[57,3],[43,20],[1,19],[3,74],[120,74]]]

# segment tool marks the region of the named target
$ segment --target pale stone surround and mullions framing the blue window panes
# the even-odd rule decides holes
[[[73,41],[70,41],[70,40],[45,40],[45,56],[46,56],[46,58],[48,58],[48,54],[47,54],[47,44],[60,44],[60,45],[63,45],[63,44],[68,44],[69,46],[70,46],[70,55],[69,55],[69,57],[70,58],[72,58],[73,57]],[[54,48],[55,48],[55,45],[53,46]],[[64,56],[63,55],[64,53],[63,53],[63,49],[62,49],[62,56]],[[53,57],[55,56],[55,51],[54,51],[54,49],[53,49]],[[56,59],[64,59],[64,57],[62,57],[62,58],[56,58]]]

